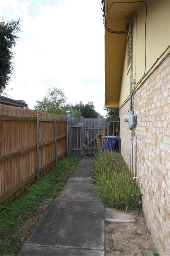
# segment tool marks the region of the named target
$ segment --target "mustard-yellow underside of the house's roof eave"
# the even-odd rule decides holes
[[[125,30],[126,24],[135,15],[134,12],[139,10],[144,3],[138,1],[129,3],[130,0],[120,0],[113,4],[111,0],[105,0],[106,25],[114,31]],[[122,72],[126,51],[126,39],[128,33],[115,34],[105,29],[105,105],[114,108],[119,103]]]

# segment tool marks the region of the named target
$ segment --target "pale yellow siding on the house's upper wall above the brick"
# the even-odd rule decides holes
[[[142,78],[145,70],[145,6],[134,15],[133,23],[133,78],[136,83]],[[136,33],[137,31],[137,33]],[[147,58],[146,73],[157,58],[170,44],[170,1],[149,0],[147,2]],[[124,60],[123,77],[119,106],[128,98],[130,91],[130,74],[126,71],[126,57]]]

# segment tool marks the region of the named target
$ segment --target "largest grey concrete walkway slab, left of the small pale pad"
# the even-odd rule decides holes
[[[56,200],[27,244],[104,250],[104,208],[100,202]]]

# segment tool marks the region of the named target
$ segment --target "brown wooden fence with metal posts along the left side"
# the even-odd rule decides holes
[[[12,201],[35,180],[36,175],[37,179],[42,177],[57,159],[66,155],[67,120],[66,116],[0,106],[3,202]]]

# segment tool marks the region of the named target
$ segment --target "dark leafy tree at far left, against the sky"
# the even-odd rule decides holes
[[[3,92],[8,85],[11,76],[13,75],[13,62],[14,53],[12,47],[16,45],[16,41],[19,38],[16,36],[18,31],[21,31],[19,27],[20,20],[5,21],[4,18],[0,21],[0,92]]]

